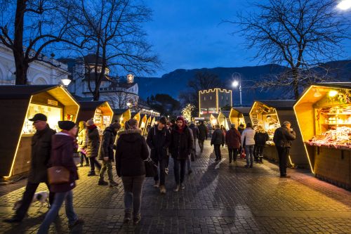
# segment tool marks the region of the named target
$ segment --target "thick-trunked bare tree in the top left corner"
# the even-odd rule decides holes
[[[27,84],[29,64],[41,60],[46,47],[58,42],[74,44],[68,33],[74,5],[66,0],[1,0],[0,4],[0,41],[13,51],[15,84]]]

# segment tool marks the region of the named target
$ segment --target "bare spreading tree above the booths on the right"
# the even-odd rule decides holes
[[[340,55],[341,42],[350,38],[350,23],[336,11],[335,0],[270,0],[252,5],[254,13],[238,13],[237,21],[227,22],[239,27],[233,34],[241,33],[247,48],[257,49],[254,59],[289,68],[260,86],[290,86],[298,98],[301,84],[320,79],[304,76],[305,70]]]

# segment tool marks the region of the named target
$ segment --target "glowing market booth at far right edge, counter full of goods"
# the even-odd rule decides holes
[[[351,188],[351,83],[321,83],[294,105],[312,173]]]

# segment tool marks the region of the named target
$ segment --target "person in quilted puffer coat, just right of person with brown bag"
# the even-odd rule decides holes
[[[96,160],[100,148],[100,135],[98,127],[94,124],[93,119],[89,119],[86,122],[86,127],[88,129],[86,157],[88,157],[90,164],[90,171],[88,172],[88,176],[95,176],[95,165],[98,167],[98,169],[101,169],[100,163]]]

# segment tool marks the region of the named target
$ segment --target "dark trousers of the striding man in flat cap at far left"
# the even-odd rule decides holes
[[[25,214],[27,214],[29,206],[32,203],[34,193],[37,190],[38,186],[39,186],[39,183],[31,183],[29,181],[27,182],[27,186],[25,187],[25,193],[23,193],[23,197],[22,197],[22,204],[20,205],[20,208],[16,210],[15,218],[17,219],[25,218]],[[48,190],[50,191],[49,183],[46,183],[46,186],[48,186]],[[48,199],[50,204],[53,204],[54,196],[55,196],[55,193],[52,193],[52,192],[49,193]]]

